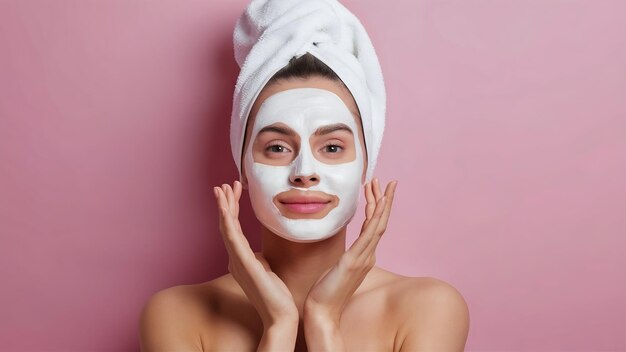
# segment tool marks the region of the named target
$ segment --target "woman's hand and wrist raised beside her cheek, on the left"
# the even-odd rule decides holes
[[[250,248],[239,223],[239,198],[241,183],[235,181],[214,187],[220,218],[220,232],[228,251],[228,271],[239,283],[254,305],[267,332],[274,327],[296,329],[299,314],[291,292],[285,283],[272,272],[269,264]]]

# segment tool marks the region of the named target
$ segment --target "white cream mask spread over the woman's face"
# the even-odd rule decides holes
[[[289,165],[274,166],[254,161],[253,145],[259,131],[281,122],[293,129],[300,138],[299,150],[290,147],[297,156]],[[356,158],[341,164],[328,164],[316,159],[309,138],[321,126],[343,123],[353,134]],[[343,100],[336,94],[318,88],[295,88],[267,98],[259,108],[244,154],[248,192],[252,208],[259,221],[275,234],[295,242],[313,242],[335,235],[350,222],[361,197],[363,152],[359,128]],[[298,187],[290,176],[317,175],[319,183]],[[320,191],[339,200],[326,216],[320,219],[293,219],[285,217],[274,198],[291,189]],[[306,193],[305,193],[306,195]],[[291,216],[293,217],[293,216]]]

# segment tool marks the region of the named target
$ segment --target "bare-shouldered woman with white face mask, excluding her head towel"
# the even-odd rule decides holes
[[[310,53],[262,86],[233,147],[241,183],[214,189],[230,273],[153,295],[142,351],[464,349],[469,313],[454,287],[374,265],[397,182],[384,193],[366,182],[373,142],[357,100]],[[258,253],[237,220],[244,188],[262,225]],[[361,189],[366,219],[346,250]]]

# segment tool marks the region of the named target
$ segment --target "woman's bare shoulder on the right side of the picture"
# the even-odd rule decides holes
[[[400,351],[463,351],[469,332],[469,309],[450,283],[434,277],[390,272],[388,302],[398,323]]]

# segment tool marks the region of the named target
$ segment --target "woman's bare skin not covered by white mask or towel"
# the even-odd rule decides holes
[[[337,94],[360,126],[349,91],[326,78],[310,77],[266,86],[252,108],[248,128],[264,99],[298,87]],[[285,148],[270,152],[267,143],[252,141],[255,161],[288,163],[296,155],[297,142],[281,138]],[[347,137],[330,138],[341,144]],[[358,138],[364,146],[362,131]],[[316,148],[315,156],[349,160],[354,151],[349,143],[344,145],[348,147],[339,153],[332,147]],[[390,182],[384,193],[377,178],[365,184],[366,219],[348,249],[345,227],[314,243],[288,241],[263,227],[262,250],[255,253],[238,221],[239,198],[247,182],[245,170],[243,174],[243,184],[235,181],[214,189],[229,273],[155,293],[141,312],[142,351],[463,351],[469,311],[458,290],[436,278],[402,276],[375,265],[397,182]],[[309,187],[316,176],[291,182]]]

